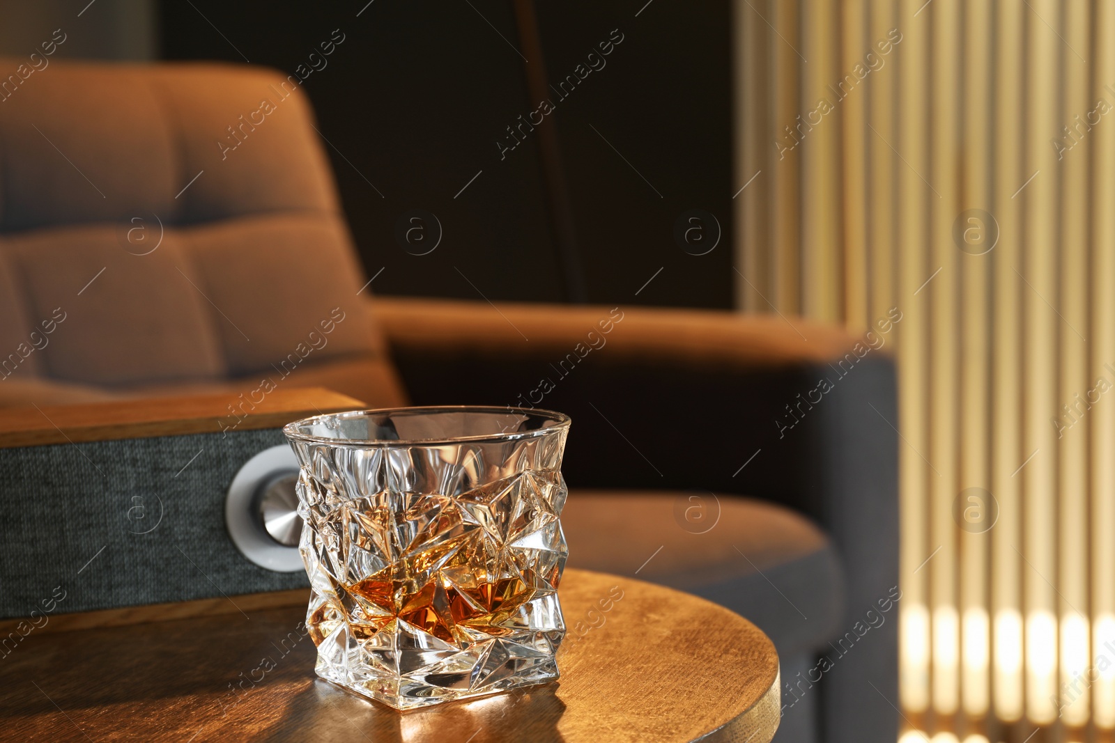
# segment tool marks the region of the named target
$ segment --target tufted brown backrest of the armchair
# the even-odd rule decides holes
[[[55,62],[2,106],[0,404],[264,377],[405,402],[300,88]]]

